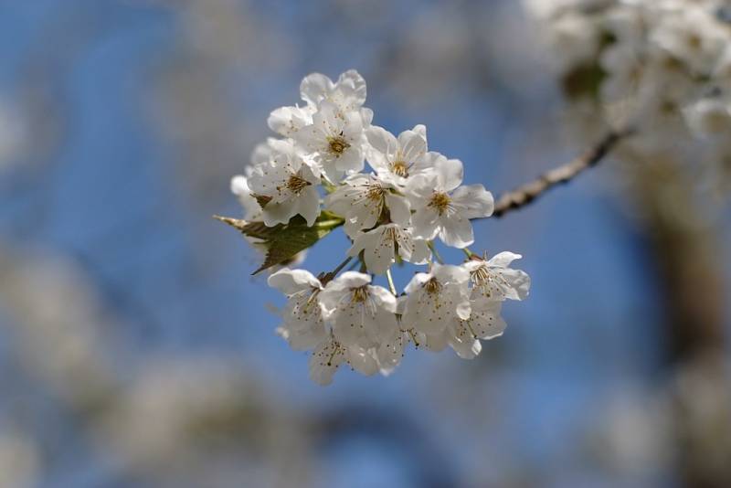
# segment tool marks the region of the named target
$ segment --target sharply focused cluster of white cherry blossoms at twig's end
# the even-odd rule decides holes
[[[493,213],[493,196],[482,185],[461,185],[461,162],[429,152],[423,125],[398,136],[373,125],[355,70],[336,81],[312,74],[300,90],[303,106],[271,112],[269,126],[281,137],[256,148],[231,188],[247,222],[286,232],[292,219],[317,228],[327,215],[326,230],[342,226],[352,246],[334,271],[270,275],[288,299],[278,333],[293,349],[313,351],[310,377],[322,385],[343,364],[388,374],[408,343],[475,357],[481,339],[503,333],[502,302],[524,299],[530,287],[524,271],[510,268],[519,255],[487,260],[467,249],[471,219]],[[254,238],[266,228],[258,232]],[[440,263],[435,239],[464,249],[466,262]],[[351,260],[359,271],[343,271]],[[398,293],[391,267],[405,262],[424,268]]]

